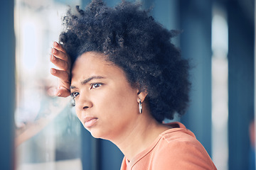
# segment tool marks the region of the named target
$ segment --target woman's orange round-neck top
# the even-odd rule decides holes
[[[130,162],[124,157],[121,170],[206,170],[216,169],[206,149],[190,130],[178,122],[178,128],[162,132],[143,152]]]

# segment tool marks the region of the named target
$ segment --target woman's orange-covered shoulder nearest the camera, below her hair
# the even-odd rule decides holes
[[[162,133],[154,150],[154,169],[215,169],[206,149],[186,128]]]

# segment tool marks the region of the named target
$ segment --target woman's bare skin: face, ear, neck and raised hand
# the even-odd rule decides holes
[[[131,86],[123,70],[107,62],[105,55],[85,52],[75,61],[70,74],[65,50],[56,42],[53,47],[50,61],[59,69],[51,69],[51,74],[60,82],[56,94],[65,97],[71,91],[78,118],[93,137],[110,140],[131,160],[170,128],[151,116],[144,100],[146,91]],[[72,77],[71,86],[68,75]]]

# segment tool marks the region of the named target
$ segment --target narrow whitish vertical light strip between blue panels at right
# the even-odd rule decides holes
[[[213,6],[212,50],[213,162],[228,170],[228,23],[220,6]]]

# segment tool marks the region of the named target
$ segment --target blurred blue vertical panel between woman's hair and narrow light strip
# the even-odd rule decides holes
[[[182,0],[181,52],[191,60],[191,103],[182,121],[211,152],[212,1]]]

